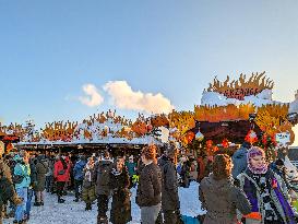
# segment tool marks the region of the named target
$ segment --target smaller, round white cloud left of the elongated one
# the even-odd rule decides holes
[[[88,107],[95,107],[99,106],[104,102],[104,97],[98,93],[98,90],[93,84],[85,84],[83,85],[83,91],[86,94],[86,96],[80,96],[79,101],[88,106]]]

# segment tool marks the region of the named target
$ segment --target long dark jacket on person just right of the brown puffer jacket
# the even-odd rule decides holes
[[[175,211],[180,208],[178,197],[178,181],[174,163],[163,155],[158,161],[162,170],[162,209],[163,211]]]

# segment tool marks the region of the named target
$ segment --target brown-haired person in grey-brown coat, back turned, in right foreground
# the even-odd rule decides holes
[[[203,224],[236,224],[237,209],[242,214],[251,212],[245,192],[233,184],[231,167],[230,157],[218,154],[214,157],[213,173],[202,179],[199,196],[207,211]]]

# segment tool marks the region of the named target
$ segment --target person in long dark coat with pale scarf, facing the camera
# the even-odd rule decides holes
[[[132,220],[129,186],[128,170],[123,161],[118,158],[110,173],[110,188],[112,190],[110,222],[112,224],[126,224]]]

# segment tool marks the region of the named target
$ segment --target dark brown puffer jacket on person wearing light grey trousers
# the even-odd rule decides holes
[[[153,207],[162,202],[162,172],[151,163],[142,168],[136,191],[139,207]]]

